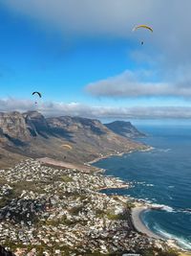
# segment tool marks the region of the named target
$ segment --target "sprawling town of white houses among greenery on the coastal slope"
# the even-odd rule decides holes
[[[0,177],[0,241],[16,256],[121,255],[165,246],[136,231],[129,198],[99,192],[129,186],[115,177],[32,159],[0,170]]]

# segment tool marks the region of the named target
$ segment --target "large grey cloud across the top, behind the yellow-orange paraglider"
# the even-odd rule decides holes
[[[101,35],[138,42],[138,34],[132,33],[132,28],[136,24],[149,24],[154,28],[149,45],[160,49],[171,64],[189,62],[191,57],[190,0],[0,0],[0,3],[36,21],[45,30],[60,31],[65,39],[66,35]]]

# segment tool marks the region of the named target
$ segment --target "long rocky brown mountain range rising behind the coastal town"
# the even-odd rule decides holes
[[[106,154],[145,147],[124,139],[96,119],[45,118],[37,111],[0,113],[0,167],[26,157],[84,163]]]

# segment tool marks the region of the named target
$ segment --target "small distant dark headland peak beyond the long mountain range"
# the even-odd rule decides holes
[[[121,135],[126,138],[138,138],[138,137],[145,137],[146,134],[139,131],[135,128],[130,122],[125,121],[115,121],[110,124],[105,124],[105,126],[118,135]]]

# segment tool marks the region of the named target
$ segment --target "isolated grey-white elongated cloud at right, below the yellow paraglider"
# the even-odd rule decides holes
[[[97,97],[191,97],[191,80],[173,82],[146,81],[153,77],[149,71],[125,71],[122,74],[86,86],[86,91]],[[150,80],[151,80],[150,79]],[[185,78],[184,78],[185,79]]]

